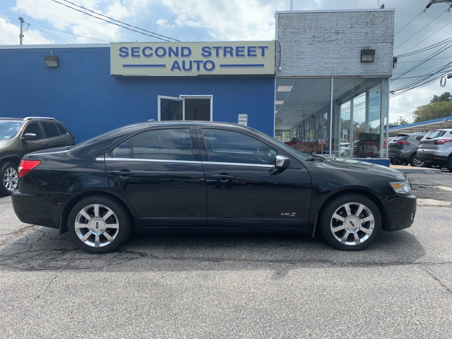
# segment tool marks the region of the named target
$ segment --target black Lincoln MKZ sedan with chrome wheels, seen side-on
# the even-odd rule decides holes
[[[234,124],[149,122],[26,155],[14,210],[69,232],[83,250],[118,248],[131,231],[287,231],[361,250],[410,227],[408,178],[353,159],[298,152]]]

